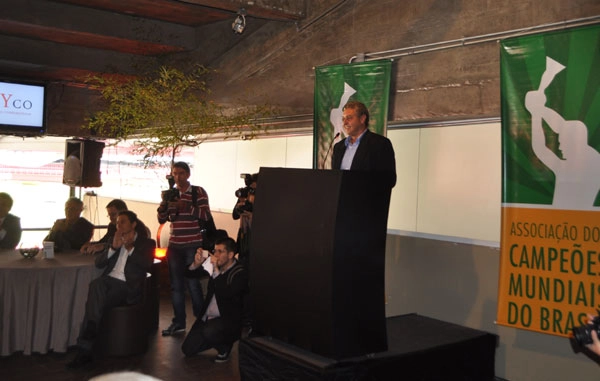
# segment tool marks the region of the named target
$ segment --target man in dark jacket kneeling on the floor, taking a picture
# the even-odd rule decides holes
[[[186,356],[215,348],[218,352],[215,362],[225,362],[229,360],[233,343],[240,338],[248,274],[236,261],[235,251],[232,238],[217,238],[210,259],[205,261],[202,249],[198,249],[186,273],[187,276],[202,276],[212,268],[207,303],[181,346]]]

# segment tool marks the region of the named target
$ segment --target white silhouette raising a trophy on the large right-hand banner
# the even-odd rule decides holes
[[[592,210],[600,189],[600,154],[588,145],[588,131],[578,120],[565,120],[546,107],[544,91],[565,66],[546,57],[546,70],[538,90],[525,95],[525,108],[531,113],[531,145],[535,155],[554,172],[556,209]],[[546,146],[543,121],[558,134],[562,158]]]

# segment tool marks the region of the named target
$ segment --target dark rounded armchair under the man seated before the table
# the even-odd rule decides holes
[[[158,319],[158,288],[153,283],[152,274],[148,274],[140,303],[114,307],[104,314],[95,350],[105,356],[131,356],[146,352],[148,336],[156,329],[153,326]]]

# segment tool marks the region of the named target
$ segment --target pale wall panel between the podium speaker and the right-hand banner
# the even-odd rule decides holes
[[[398,184],[388,229],[497,246],[500,124],[392,130]]]

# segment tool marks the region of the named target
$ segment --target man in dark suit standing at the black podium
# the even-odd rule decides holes
[[[392,143],[385,136],[369,131],[369,110],[357,101],[343,108],[346,138],[333,147],[331,167],[356,171],[380,171],[396,185],[396,159]]]

